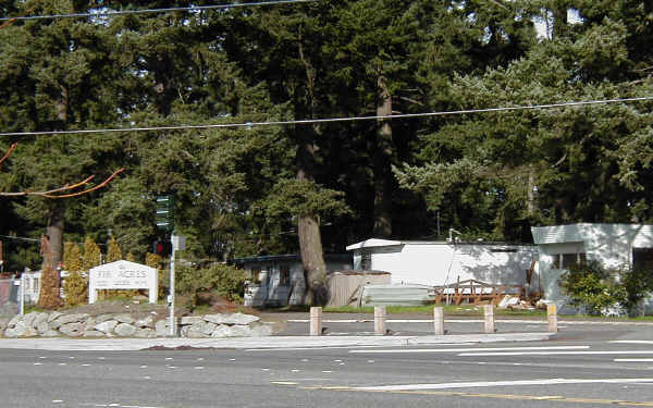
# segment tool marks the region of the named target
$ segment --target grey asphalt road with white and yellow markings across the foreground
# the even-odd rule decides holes
[[[4,349],[0,407],[653,407],[650,325],[592,327],[429,347]]]

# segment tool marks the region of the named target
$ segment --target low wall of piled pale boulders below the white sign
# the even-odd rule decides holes
[[[245,337],[269,336],[272,329],[260,323],[256,316],[206,314],[186,317],[178,325],[183,337]],[[5,337],[163,337],[170,333],[165,319],[157,320],[156,312],[144,318],[130,313],[89,316],[60,312],[32,312],[13,317],[0,324]]]

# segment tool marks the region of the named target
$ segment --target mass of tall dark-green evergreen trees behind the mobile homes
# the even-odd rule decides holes
[[[2,0],[0,17],[161,4]],[[0,136],[0,157],[20,143],[0,191],[125,169],[82,197],[0,197],[0,235],[16,237],[5,270],[38,268],[38,245],[17,238],[44,233],[54,264],[64,240],[84,237],[114,237],[112,254],[143,260],[168,193],[189,258],[300,252],[313,277],[323,251],[371,236],[455,227],[529,242],[532,225],[652,222],[653,101],[256,125],[650,97],[652,39],[652,7],[633,0],[323,0],[4,22],[0,132],[168,127]],[[170,128],[232,123],[252,125]]]

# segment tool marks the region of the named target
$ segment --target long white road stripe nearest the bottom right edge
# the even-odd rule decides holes
[[[629,384],[629,383],[653,383],[653,379],[540,379],[517,381],[478,381],[460,383],[439,384],[405,384],[405,385],[378,385],[358,386],[350,390],[359,391],[411,391],[411,390],[448,390],[448,388],[478,388],[496,386],[519,385],[564,385],[564,384]]]

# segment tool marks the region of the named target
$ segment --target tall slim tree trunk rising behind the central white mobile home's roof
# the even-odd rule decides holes
[[[377,115],[392,114],[392,96],[383,76],[378,78]],[[377,146],[373,146],[374,169],[374,228],[375,237],[389,238],[392,235],[392,126],[390,121],[377,121]]]

